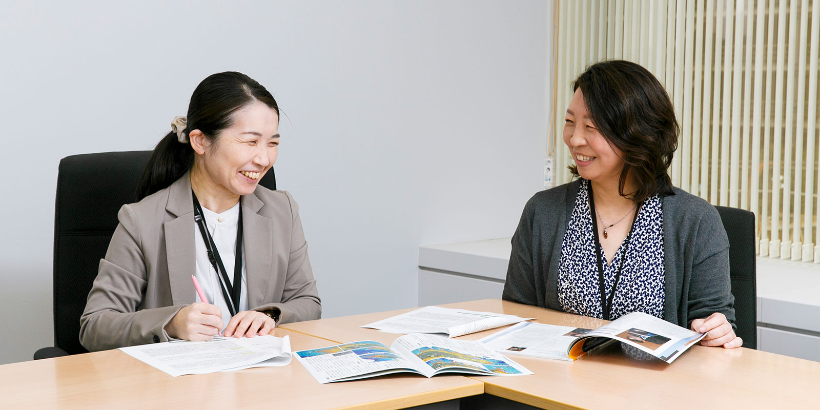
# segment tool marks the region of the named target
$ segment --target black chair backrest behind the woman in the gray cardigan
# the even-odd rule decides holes
[[[743,347],[758,347],[757,259],[754,255],[754,213],[716,207],[729,237],[729,276],[735,296],[736,335]]]

